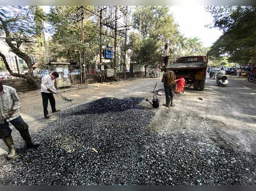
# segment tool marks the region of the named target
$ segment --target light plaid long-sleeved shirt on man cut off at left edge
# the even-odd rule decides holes
[[[3,91],[0,93],[0,123],[4,123],[4,119],[12,110],[15,110],[12,118],[6,121],[12,121],[20,116],[20,99],[15,88],[3,85]]]

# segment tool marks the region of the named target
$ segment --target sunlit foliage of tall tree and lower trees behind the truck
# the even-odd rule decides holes
[[[131,61],[145,66],[156,66],[163,45],[169,42],[170,60],[180,56],[206,55],[209,48],[202,47],[198,38],[186,38],[180,34],[168,6],[137,6],[132,15],[133,27],[129,49]]]

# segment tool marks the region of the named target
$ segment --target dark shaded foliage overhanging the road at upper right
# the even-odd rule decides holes
[[[228,56],[228,61],[246,64],[256,61],[256,6],[207,6],[214,25],[223,35],[212,45],[211,55]]]

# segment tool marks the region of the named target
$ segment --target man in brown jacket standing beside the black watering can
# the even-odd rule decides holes
[[[173,91],[176,84],[175,79],[176,79],[175,73],[168,68],[164,68],[162,82],[164,83],[164,93],[165,93],[166,103],[165,104],[163,103],[163,105],[165,107],[169,107],[170,100],[171,100],[171,107],[174,107]]]

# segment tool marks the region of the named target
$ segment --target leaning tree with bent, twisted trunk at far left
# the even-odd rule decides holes
[[[39,88],[40,84],[38,79],[33,77],[31,57],[26,50],[22,50],[22,43],[31,42],[31,36],[42,32],[42,27],[38,25],[42,20],[44,20],[43,12],[35,11],[34,6],[0,6],[0,32],[10,50],[26,62],[28,75],[12,72],[2,52],[0,56],[11,75],[28,80],[36,88]]]

